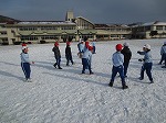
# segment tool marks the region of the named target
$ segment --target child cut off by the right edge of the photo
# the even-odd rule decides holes
[[[165,62],[165,66],[163,66],[162,68],[166,68],[166,42],[164,42],[164,45],[160,48],[160,55],[162,55],[162,59],[159,62],[159,65],[162,65],[163,60]]]

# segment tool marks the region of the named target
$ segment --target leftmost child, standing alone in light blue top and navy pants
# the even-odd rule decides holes
[[[21,67],[22,67],[23,74],[25,76],[25,81],[32,82],[32,80],[30,78],[30,75],[31,75],[30,65],[34,64],[34,62],[30,62],[28,52],[29,52],[29,48],[27,47],[27,45],[23,45],[22,53],[20,54],[21,55],[20,56],[21,57]]]

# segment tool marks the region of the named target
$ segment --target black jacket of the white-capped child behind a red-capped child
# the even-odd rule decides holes
[[[131,52],[131,49],[129,49],[127,46],[125,46],[125,47],[121,51],[121,53],[124,55],[124,63],[129,63],[131,57],[132,57],[132,52]]]

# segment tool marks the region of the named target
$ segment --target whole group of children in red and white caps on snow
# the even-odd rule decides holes
[[[71,42],[66,42],[66,47],[65,47],[66,66],[69,66],[70,62],[72,65],[74,64],[70,45],[71,45]],[[116,52],[112,55],[113,67],[112,67],[111,81],[108,83],[110,87],[113,87],[114,79],[116,77],[116,74],[118,72],[121,80],[122,80],[122,88],[123,89],[128,88],[125,81],[125,78],[127,77],[127,68],[128,68],[129,60],[132,57],[132,52],[128,45],[129,45],[128,43],[124,43],[123,45],[117,44],[115,46]],[[92,68],[91,68],[91,63],[92,63],[92,54],[95,54],[94,46],[95,45],[90,45],[87,38],[85,38],[84,41],[81,41],[77,44],[77,48],[79,48],[77,55],[80,56],[80,58],[82,58],[82,65],[83,65],[82,74],[85,74],[85,69],[89,69],[90,75],[93,74]],[[34,62],[30,62],[28,51],[29,51],[28,46],[25,44],[22,44],[21,67],[24,72],[27,81],[31,81],[30,65],[34,64]],[[55,68],[58,66],[59,69],[62,69],[59,42],[54,43],[54,47],[52,48],[52,52],[54,53],[54,57],[56,60],[56,63],[53,66]],[[160,52],[162,52],[162,58],[165,59],[165,64],[166,64],[166,42],[164,43]],[[152,59],[152,54],[151,54],[151,45],[148,44],[144,45],[143,51],[138,51],[137,54],[144,55],[144,58],[138,59],[139,62],[143,62],[139,80],[144,79],[144,71],[146,70],[146,74],[148,76],[151,83],[154,83],[154,80],[152,77],[153,59]]]

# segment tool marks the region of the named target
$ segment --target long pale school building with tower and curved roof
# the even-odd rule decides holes
[[[65,42],[91,40],[124,40],[166,37],[166,23],[142,25],[94,24],[83,16],[66,12],[65,21],[8,21],[0,23],[0,44]]]

